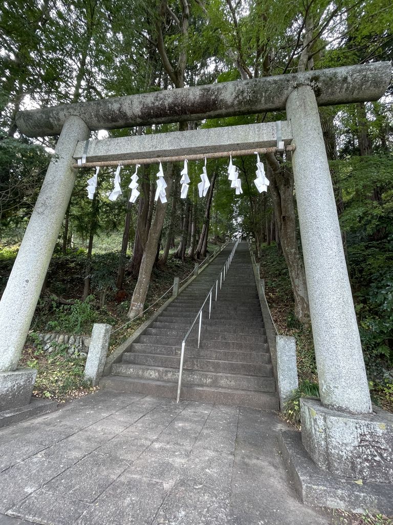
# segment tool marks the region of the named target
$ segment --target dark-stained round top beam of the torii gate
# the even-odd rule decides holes
[[[23,111],[16,122],[25,135],[42,137],[59,134],[71,115],[98,130],[282,110],[301,85],[314,89],[319,106],[371,101],[384,95],[390,76],[390,62],[374,62]]]

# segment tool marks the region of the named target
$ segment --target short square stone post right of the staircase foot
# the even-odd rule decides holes
[[[281,410],[299,386],[296,364],[296,339],[288,335],[277,335],[277,386]]]

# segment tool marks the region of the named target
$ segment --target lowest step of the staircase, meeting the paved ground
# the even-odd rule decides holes
[[[132,379],[108,375],[100,381],[101,388],[119,392],[134,392],[176,399],[177,383]],[[181,388],[181,400],[202,401],[220,405],[235,405],[261,410],[279,409],[278,396],[274,393],[236,390],[232,388],[212,388],[200,385],[184,385]]]

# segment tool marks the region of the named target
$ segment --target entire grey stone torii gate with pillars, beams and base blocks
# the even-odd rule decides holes
[[[315,464],[333,475],[392,483],[392,420],[373,412],[370,402],[318,113],[318,106],[377,100],[390,78],[390,63],[376,62],[18,113],[22,133],[60,137],[0,303],[0,411],[26,404],[31,394],[32,372],[17,367],[71,197],[75,160],[83,154],[88,163],[141,156],[165,160],[186,152],[270,147],[277,140],[271,123],[101,141],[89,141],[90,131],[285,109],[282,140],[295,146],[292,165],[321,394],[321,401],[302,400],[303,445]]]

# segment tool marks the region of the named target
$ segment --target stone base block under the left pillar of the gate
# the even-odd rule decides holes
[[[19,368],[0,372],[0,412],[30,403],[37,370]]]

